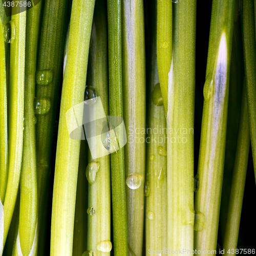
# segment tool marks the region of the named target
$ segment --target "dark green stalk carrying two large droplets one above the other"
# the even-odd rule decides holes
[[[40,29],[35,76],[38,232],[42,225],[46,190],[51,172],[52,139],[63,65],[67,6],[68,0],[46,0]]]

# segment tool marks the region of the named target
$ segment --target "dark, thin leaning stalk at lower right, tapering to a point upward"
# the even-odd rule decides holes
[[[223,249],[228,255],[228,250],[237,249],[239,224],[241,218],[246,170],[248,165],[248,155],[250,148],[250,129],[248,120],[248,108],[246,102],[245,84],[243,89],[243,99],[241,108],[241,117],[239,124],[238,145],[236,152],[236,160],[234,163],[227,222],[225,229]]]

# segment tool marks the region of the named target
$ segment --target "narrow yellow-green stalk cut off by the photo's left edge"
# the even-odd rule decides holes
[[[0,203],[5,202],[8,178],[8,130],[7,130],[7,87],[5,37],[2,19],[0,17]]]

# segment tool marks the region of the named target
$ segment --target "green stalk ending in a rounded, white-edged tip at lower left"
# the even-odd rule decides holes
[[[25,110],[17,243],[13,255],[35,255],[37,249],[37,180],[35,144],[35,72],[41,2],[27,11]]]

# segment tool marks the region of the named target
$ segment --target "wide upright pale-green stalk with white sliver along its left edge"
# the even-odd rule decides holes
[[[196,0],[174,5],[168,80],[167,248],[193,250]]]

